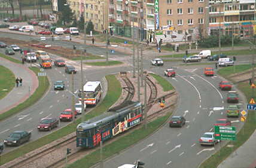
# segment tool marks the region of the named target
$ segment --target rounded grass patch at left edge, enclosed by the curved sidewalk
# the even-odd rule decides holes
[[[0,65],[0,100],[4,98],[15,86],[15,75],[10,69]],[[6,89],[6,91],[5,91]]]

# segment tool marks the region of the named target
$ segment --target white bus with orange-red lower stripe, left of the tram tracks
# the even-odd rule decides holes
[[[78,94],[80,97],[79,101],[81,102],[81,90]],[[84,85],[84,103],[86,105],[96,106],[102,96],[102,85],[100,81],[88,81]]]

